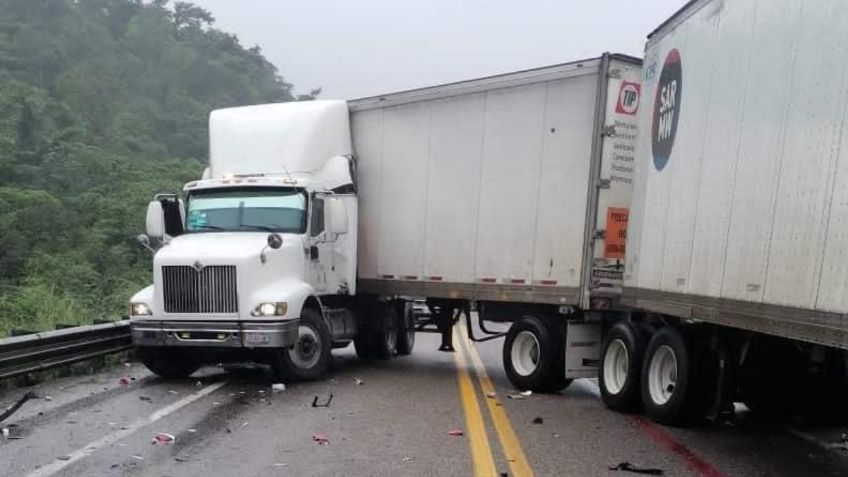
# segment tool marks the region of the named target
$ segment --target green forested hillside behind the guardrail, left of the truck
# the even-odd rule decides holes
[[[200,175],[209,111],[318,93],[189,3],[0,11],[0,336],[124,315],[151,280],[144,208]]]

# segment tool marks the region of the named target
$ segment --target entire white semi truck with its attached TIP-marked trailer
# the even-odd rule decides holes
[[[251,359],[315,379],[351,342],[365,358],[411,352],[423,299],[446,351],[471,308],[514,322],[505,361],[523,389],[595,375],[621,293],[640,76],[640,60],[605,54],[212,112],[203,177],[148,208],[140,358],[169,377]]]

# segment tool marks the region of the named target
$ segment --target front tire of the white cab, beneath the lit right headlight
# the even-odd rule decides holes
[[[286,381],[320,379],[330,366],[330,329],[316,310],[304,308],[300,314],[297,342],[274,354],[274,374]]]

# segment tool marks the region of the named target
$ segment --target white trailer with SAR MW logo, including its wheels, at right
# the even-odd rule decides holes
[[[651,34],[608,405],[844,408],[846,59],[844,0],[698,0]]]

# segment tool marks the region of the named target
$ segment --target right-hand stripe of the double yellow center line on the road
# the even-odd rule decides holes
[[[477,379],[480,381],[480,388],[486,396],[484,400],[489,408],[489,414],[492,416],[492,422],[495,424],[495,431],[501,442],[501,448],[506,456],[507,464],[509,464],[511,475],[513,477],[533,477],[533,468],[530,467],[527,456],[524,454],[524,449],[521,447],[521,441],[518,440],[518,436],[509,422],[506,409],[504,409],[497,394],[495,394],[495,386],[492,384],[492,380],[489,379],[489,374],[486,373],[486,368],[483,366],[480,355],[477,354],[474,344],[467,337],[465,323],[460,322],[459,327],[460,341],[468,348],[468,354],[471,356],[471,362],[474,365]],[[457,347],[457,349],[460,348],[461,346]],[[495,397],[488,397],[490,395],[494,395]]]

